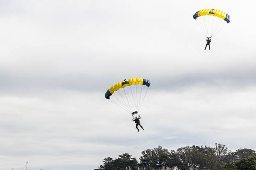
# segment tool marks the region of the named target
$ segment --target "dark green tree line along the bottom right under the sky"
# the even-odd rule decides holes
[[[168,151],[162,146],[144,150],[139,161],[129,153],[118,158],[105,158],[95,170],[256,170],[256,152],[251,149],[228,150],[224,144],[211,146],[186,146]]]

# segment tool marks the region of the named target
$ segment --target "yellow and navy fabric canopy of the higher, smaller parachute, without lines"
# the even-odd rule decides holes
[[[196,20],[198,17],[205,16],[205,15],[212,15],[214,17],[219,17],[225,20],[227,23],[230,23],[230,16],[226,14],[226,12],[218,10],[218,9],[202,9],[197,11],[193,18]]]

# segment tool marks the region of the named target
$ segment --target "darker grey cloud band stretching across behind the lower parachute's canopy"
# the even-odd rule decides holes
[[[242,88],[246,86],[254,86],[256,84],[254,69],[248,71],[216,71],[216,72],[196,72],[196,73],[176,73],[166,75],[147,75],[145,78],[151,80],[151,89],[183,89],[190,86],[220,86],[227,88]],[[119,77],[119,78],[118,78]],[[148,78],[149,77],[149,78]],[[121,75],[9,75],[2,74],[1,91],[2,93],[10,93],[23,91],[27,93],[32,91],[45,91],[65,89],[70,91],[101,91],[102,94],[113,84],[127,79]],[[130,78],[130,77],[129,77]],[[143,77],[144,78],[144,77]]]

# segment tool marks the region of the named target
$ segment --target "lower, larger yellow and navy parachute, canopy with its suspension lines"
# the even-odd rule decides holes
[[[139,115],[150,84],[148,79],[143,78],[124,79],[112,85],[105,93],[105,98],[110,99],[134,117]]]

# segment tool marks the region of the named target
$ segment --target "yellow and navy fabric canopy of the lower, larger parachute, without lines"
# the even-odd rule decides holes
[[[125,79],[122,82],[118,82],[115,85],[112,85],[111,88],[105,93],[105,98],[110,99],[110,96],[115,92],[118,91],[120,88],[125,88],[126,86],[131,85],[146,85],[147,87],[150,86],[150,81],[148,79],[143,78],[132,78],[132,79]]]

